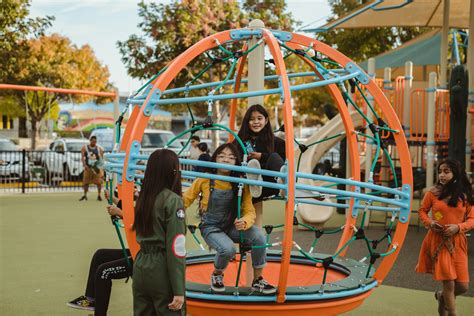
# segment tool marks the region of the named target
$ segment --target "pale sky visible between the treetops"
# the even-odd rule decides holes
[[[141,82],[127,75],[121,61],[117,41],[125,41],[132,34],[141,34],[138,28],[138,0],[32,0],[32,17],[55,17],[48,34],[67,36],[77,45],[89,44],[95,55],[109,68],[110,81],[121,94],[128,94],[141,86]],[[155,1],[170,2],[170,1]],[[328,1],[288,0],[288,11],[303,25],[324,24],[330,15]]]

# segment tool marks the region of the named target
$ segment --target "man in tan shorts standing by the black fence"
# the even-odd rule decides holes
[[[102,190],[102,182],[104,178],[104,171],[101,169],[104,158],[104,149],[97,145],[97,137],[91,136],[89,145],[84,145],[81,149],[81,160],[84,166],[84,173],[82,176],[82,183],[84,186],[84,195],[79,201],[87,201],[87,192],[89,185],[95,184],[97,186],[97,200],[102,201],[100,192]]]

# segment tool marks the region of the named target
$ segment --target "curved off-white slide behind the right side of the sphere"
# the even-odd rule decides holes
[[[354,128],[361,127],[365,121],[360,116],[357,111],[350,113]],[[312,144],[314,142],[320,141],[324,138],[337,135],[344,132],[344,124],[342,123],[341,116],[338,114],[333,119],[331,119],[326,125],[323,126],[316,134],[311,136],[305,144]],[[312,173],[316,164],[321,160],[321,157],[333,148],[341,139],[344,137],[336,137],[327,141],[324,141],[320,144],[313,145],[309,147],[306,152],[301,157],[300,162],[300,172]],[[300,155],[299,148],[295,150],[295,159],[296,163]],[[349,157],[348,157],[349,159]],[[361,161],[363,163],[363,161]],[[315,181],[311,179],[298,179],[298,183],[322,186],[325,183],[321,181]],[[317,194],[315,192],[315,194]],[[296,198],[298,196],[296,195]],[[325,202],[332,202],[331,199],[326,197]],[[322,206],[322,205],[312,205],[312,204],[298,204],[298,214],[300,220],[308,225],[315,226],[317,228],[322,228],[324,223],[327,222],[334,213],[334,207],[331,206]]]

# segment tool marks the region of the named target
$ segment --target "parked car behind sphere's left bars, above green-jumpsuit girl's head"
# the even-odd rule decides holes
[[[122,133],[123,135],[123,133]],[[112,151],[114,146],[114,131],[111,128],[100,128],[92,131],[91,136],[97,137],[97,144],[102,146],[104,150]],[[152,153],[157,149],[164,148],[165,145],[175,137],[175,134],[171,131],[146,129],[143,133],[141,142],[141,151],[143,153]],[[177,140],[173,142],[169,147],[176,153],[179,153],[183,146]]]

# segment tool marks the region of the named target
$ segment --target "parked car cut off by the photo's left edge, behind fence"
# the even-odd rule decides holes
[[[25,155],[25,180],[29,179],[30,162]],[[23,175],[23,153],[9,139],[0,138],[0,176],[19,179]]]

